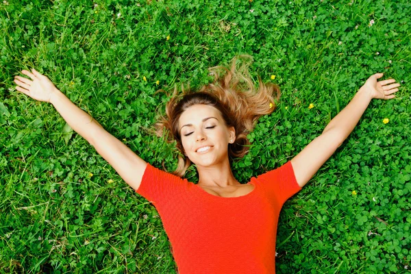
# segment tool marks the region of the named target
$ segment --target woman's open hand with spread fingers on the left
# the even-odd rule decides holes
[[[32,80],[21,76],[14,77],[14,83],[17,84],[16,90],[35,100],[50,103],[51,95],[58,92],[58,89],[50,79],[35,69],[32,69],[32,73],[25,70],[21,71],[21,73],[27,75]]]

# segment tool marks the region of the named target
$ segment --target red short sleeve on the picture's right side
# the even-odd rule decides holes
[[[301,190],[297,184],[291,161],[286,162],[278,169],[259,175],[257,180],[273,193],[280,205],[283,205],[288,198]]]

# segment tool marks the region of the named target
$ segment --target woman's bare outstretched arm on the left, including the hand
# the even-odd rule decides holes
[[[16,90],[36,99],[47,101],[62,115],[77,134],[95,147],[97,152],[119,173],[134,190],[138,190],[147,163],[120,140],[109,134],[90,115],[78,108],[45,75],[36,70],[22,71],[32,80],[16,76]]]

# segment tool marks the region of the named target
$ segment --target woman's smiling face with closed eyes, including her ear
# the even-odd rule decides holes
[[[197,166],[228,160],[228,144],[234,127],[225,125],[221,113],[210,105],[192,105],[179,118],[179,133],[186,156]]]

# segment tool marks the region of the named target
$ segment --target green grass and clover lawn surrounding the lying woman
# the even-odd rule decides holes
[[[282,99],[234,164],[240,182],[297,155],[373,73],[402,84],[396,99],[371,102],[286,203],[276,262],[277,273],[406,273],[411,4],[185,2],[0,3],[0,273],[175,273],[155,208],[64,130],[51,105],[16,94],[18,71],[45,73],[143,159],[172,169],[175,148],[144,130],[167,100],[155,91],[199,88],[208,67],[242,53],[256,60],[254,79],[279,84]],[[187,177],[196,179],[194,169]]]

